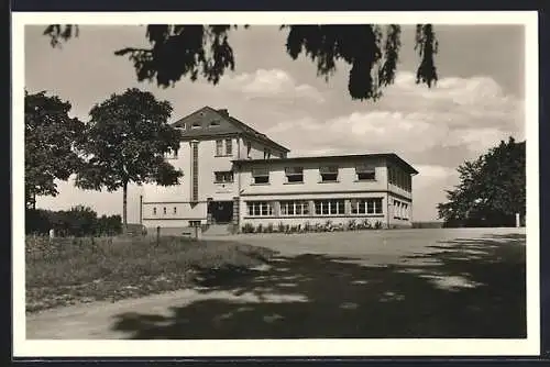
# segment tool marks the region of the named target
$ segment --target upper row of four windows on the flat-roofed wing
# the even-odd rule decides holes
[[[321,182],[338,182],[338,166],[319,167]],[[286,167],[285,176],[287,184],[304,184],[304,167]],[[254,168],[252,170],[253,182],[256,185],[270,184],[270,170],[267,168]],[[376,180],[376,169],[373,166],[358,165],[355,167],[355,179],[358,181]]]

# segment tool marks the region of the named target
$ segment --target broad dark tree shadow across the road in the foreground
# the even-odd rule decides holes
[[[199,292],[238,297],[198,300],[169,316],[120,314],[113,329],[140,340],[526,337],[518,241],[450,241],[392,266],[306,254],[275,257],[266,270],[206,271]]]

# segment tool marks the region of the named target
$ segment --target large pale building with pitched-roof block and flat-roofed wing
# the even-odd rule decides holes
[[[205,107],[174,123],[182,133],[166,159],[179,185],[146,185],[141,222],[164,233],[194,225],[315,225],[349,221],[411,226],[411,176],[395,154],[288,157],[289,149],[227,110]]]

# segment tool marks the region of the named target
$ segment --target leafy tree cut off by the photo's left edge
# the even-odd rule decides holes
[[[76,153],[84,123],[69,118],[70,103],[44,91],[25,90],[25,207],[37,196],[56,196],[56,179],[67,180],[80,167]]]

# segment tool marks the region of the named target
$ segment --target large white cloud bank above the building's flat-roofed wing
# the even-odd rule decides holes
[[[488,77],[446,78],[428,89],[416,85],[413,74],[400,73],[374,105],[329,120],[282,121],[267,133],[300,152],[322,146],[339,153],[395,152],[406,159],[453,147],[482,154],[509,135],[525,137],[524,103]]]

